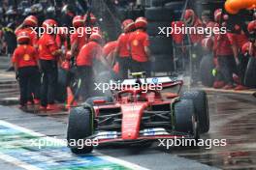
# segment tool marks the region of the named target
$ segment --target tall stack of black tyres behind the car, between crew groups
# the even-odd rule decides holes
[[[177,6],[176,4],[179,4]],[[145,9],[147,18],[147,33],[149,35],[150,50],[152,56],[151,71],[167,72],[174,71],[173,40],[172,36],[161,33],[161,28],[171,27],[172,21],[181,15],[184,2],[174,0],[153,0],[152,6]],[[166,28],[164,29],[166,32]]]

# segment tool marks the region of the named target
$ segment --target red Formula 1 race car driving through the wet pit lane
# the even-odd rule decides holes
[[[150,143],[158,139],[199,138],[208,132],[208,99],[204,91],[179,95],[182,80],[145,78],[133,73],[112,88],[112,97],[87,99],[70,112],[67,139],[75,154],[90,153],[93,145]],[[170,91],[177,88],[177,93]],[[74,142],[76,141],[77,143]],[[73,142],[73,144],[72,144]]]

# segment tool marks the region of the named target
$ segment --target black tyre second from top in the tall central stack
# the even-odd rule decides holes
[[[145,9],[145,17],[148,21],[173,21],[174,13],[172,10],[162,7],[152,7]]]

